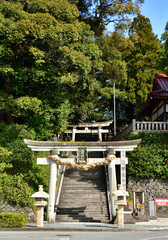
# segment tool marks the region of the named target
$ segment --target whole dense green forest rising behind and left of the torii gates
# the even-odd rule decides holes
[[[37,184],[47,187],[48,169],[36,165],[24,138],[47,140],[67,122],[113,119],[114,82],[117,123],[129,123],[154,73],[168,74],[168,25],[159,40],[141,15],[143,2],[0,1],[1,199],[29,205]]]

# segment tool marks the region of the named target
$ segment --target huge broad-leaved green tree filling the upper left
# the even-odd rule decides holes
[[[90,118],[91,104],[94,112],[101,52],[78,16],[66,0],[0,2],[1,119],[26,124],[37,139]]]

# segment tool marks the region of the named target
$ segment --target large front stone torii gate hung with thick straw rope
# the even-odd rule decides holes
[[[32,141],[24,140],[32,151],[49,151],[49,158],[37,158],[37,164],[49,164],[50,165],[50,177],[49,177],[49,201],[48,201],[48,222],[55,222],[56,214],[54,213],[55,206],[55,189],[57,182],[57,166],[71,165],[72,167],[95,167],[96,165],[108,164],[108,177],[109,177],[109,189],[110,189],[110,212],[112,216],[116,216],[116,206],[114,204],[114,197],[112,193],[117,190],[117,180],[116,180],[116,167],[115,165],[120,165],[120,183],[123,190],[126,190],[126,164],[128,164],[128,159],[126,157],[127,151],[132,151],[141,140],[133,141],[117,141],[117,142],[68,142],[61,143],[56,141]],[[88,158],[87,163],[77,164],[76,159],[78,156],[78,151],[80,149],[87,149]],[[73,157],[58,157],[60,152],[76,152],[77,155]],[[103,158],[89,158],[90,152],[103,152]],[[119,155],[119,157],[115,157]],[[86,169],[85,169],[86,170]]]

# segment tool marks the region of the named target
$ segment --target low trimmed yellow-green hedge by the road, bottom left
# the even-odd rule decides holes
[[[20,213],[0,213],[0,227],[13,228],[24,227],[28,223],[28,218],[25,214]]]

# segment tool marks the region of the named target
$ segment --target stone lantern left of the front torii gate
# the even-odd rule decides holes
[[[47,205],[47,202],[43,199],[49,198],[49,195],[43,192],[43,185],[39,185],[38,192],[34,193],[31,197],[36,198],[34,205],[37,207],[37,227],[43,227],[44,206]]]

